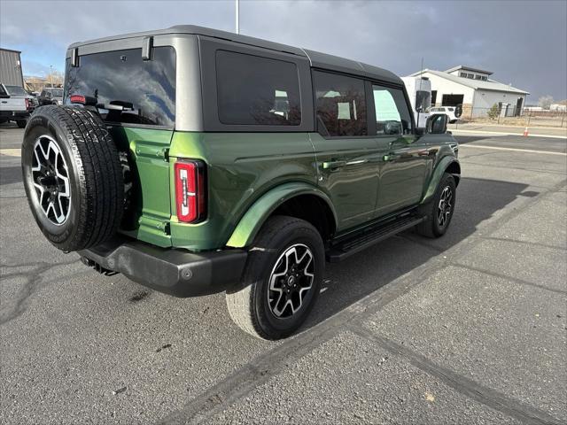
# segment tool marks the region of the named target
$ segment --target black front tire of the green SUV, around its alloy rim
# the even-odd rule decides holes
[[[448,215],[448,219],[444,225],[439,225],[438,213],[439,213],[439,202],[443,191],[448,188],[452,193],[452,205],[451,211]],[[454,177],[452,174],[443,174],[443,178],[439,182],[435,194],[431,197],[431,200],[424,205],[421,205],[419,212],[426,216],[420,224],[417,225],[416,231],[418,234],[426,237],[439,237],[445,235],[451,219],[454,213],[454,203],[456,201],[456,183],[454,182]]]

